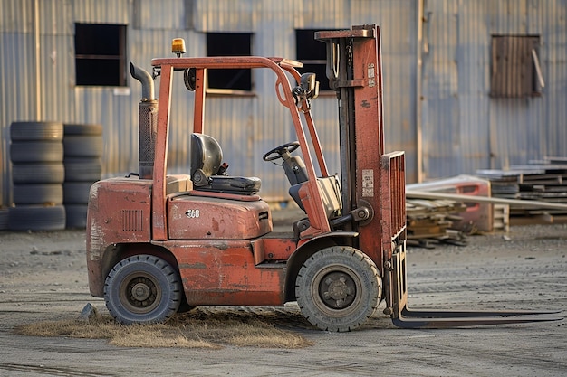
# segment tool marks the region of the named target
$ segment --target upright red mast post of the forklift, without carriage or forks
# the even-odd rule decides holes
[[[384,153],[380,28],[353,26],[350,31],[318,32],[327,43],[327,76],[338,92],[341,137],[343,214],[368,208],[368,221],[352,223],[356,247],[382,269],[380,156]],[[339,46],[338,49],[334,45]],[[334,55],[338,54],[338,58]],[[338,64],[337,64],[338,62]],[[338,65],[338,72],[333,70]]]

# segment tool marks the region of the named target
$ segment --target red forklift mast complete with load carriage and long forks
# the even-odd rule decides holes
[[[406,194],[403,152],[386,154],[380,26],[322,31],[326,75],[337,92],[341,140],[343,218],[345,230],[356,231],[354,245],[370,256],[383,278],[384,313],[394,325],[438,328],[496,325],[560,319],[553,311],[410,310],[406,269]],[[343,228],[345,228],[343,226]]]

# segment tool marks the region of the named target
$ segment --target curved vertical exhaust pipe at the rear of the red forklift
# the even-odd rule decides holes
[[[139,178],[152,179],[158,133],[158,99],[154,98],[154,81],[148,71],[130,62],[130,75],[142,84],[142,99],[139,102]]]

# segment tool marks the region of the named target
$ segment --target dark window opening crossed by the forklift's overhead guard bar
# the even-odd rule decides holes
[[[207,56],[250,56],[252,34],[207,33]],[[252,90],[250,69],[207,70],[207,87],[221,90]]]

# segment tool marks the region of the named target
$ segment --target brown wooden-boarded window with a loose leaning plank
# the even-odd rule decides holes
[[[539,59],[540,37],[493,35],[490,96],[540,96],[544,86]]]

